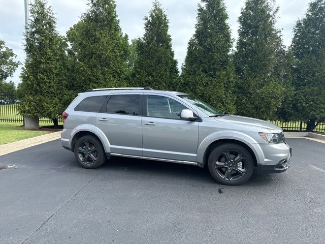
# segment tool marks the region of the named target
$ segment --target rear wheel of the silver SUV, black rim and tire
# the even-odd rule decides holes
[[[74,153],[76,160],[86,169],[98,168],[107,160],[102,142],[91,135],[77,140]]]

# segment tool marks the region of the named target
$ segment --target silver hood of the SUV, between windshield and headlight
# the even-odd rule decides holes
[[[253,126],[258,128],[263,128],[270,130],[271,132],[276,131],[282,131],[282,129],[268,121],[257,119],[257,118],[250,118],[250,117],[244,117],[244,116],[238,116],[238,115],[225,115],[222,117],[215,117],[217,121],[225,122],[225,123],[231,123],[234,125],[245,125],[245,126]]]

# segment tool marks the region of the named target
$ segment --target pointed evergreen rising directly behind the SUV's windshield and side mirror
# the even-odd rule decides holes
[[[232,38],[223,0],[202,0],[189,40],[181,87],[220,111],[235,112]]]

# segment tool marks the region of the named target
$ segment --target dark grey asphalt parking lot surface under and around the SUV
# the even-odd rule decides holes
[[[82,169],[59,140],[1,156],[0,242],[325,243],[325,144],[287,142],[287,172],[237,187],[163,162]]]

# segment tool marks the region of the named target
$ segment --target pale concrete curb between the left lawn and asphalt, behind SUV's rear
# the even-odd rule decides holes
[[[0,145],[0,156],[13,153],[14,151],[18,151],[27,147],[39,145],[44,142],[53,141],[59,139],[60,137],[61,137],[61,132],[58,131],[58,132],[45,134],[42,136],[31,137],[28,139]]]

